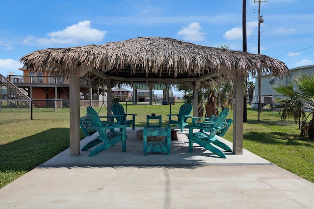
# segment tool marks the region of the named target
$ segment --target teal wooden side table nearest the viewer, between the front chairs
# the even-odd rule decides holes
[[[143,155],[148,152],[166,152],[171,155],[171,129],[168,127],[144,127],[143,129]],[[164,141],[147,141],[147,136],[166,136]]]

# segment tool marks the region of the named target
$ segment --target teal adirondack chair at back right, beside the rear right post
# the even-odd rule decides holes
[[[190,103],[184,103],[180,109],[179,114],[169,114],[169,122],[168,122],[168,128],[170,128],[171,124],[176,125],[180,127],[181,132],[183,132],[183,127],[187,126],[188,123],[186,122],[187,118],[191,117],[190,113],[193,109],[193,106]],[[172,120],[172,116],[177,116],[177,120]]]

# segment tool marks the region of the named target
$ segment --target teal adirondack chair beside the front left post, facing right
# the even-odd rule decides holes
[[[82,151],[86,151],[90,149],[91,147],[96,146],[99,143],[102,143],[101,145],[94,148],[90,153],[89,156],[95,156],[98,153],[104,151],[105,149],[113,146],[114,144],[122,141],[122,152],[126,151],[126,139],[127,139],[127,127],[128,125],[106,125],[104,126],[100,117],[95,114],[88,113],[87,116],[89,116],[93,122],[92,127],[95,128],[99,136],[85,144],[85,146],[81,149]],[[120,132],[114,131],[115,128],[120,128]],[[106,130],[109,129],[109,132],[106,132]]]

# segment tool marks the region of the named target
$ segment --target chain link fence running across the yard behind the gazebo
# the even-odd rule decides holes
[[[28,101],[29,102],[29,101]],[[115,101],[117,102],[117,101]],[[119,101],[125,108],[126,113],[137,114],[135,117],[136,126],[143,127],[146,125],[146,116],[155,113],[162,116],[162,124],[168,124],[168,114],[178,114],[182,101],[175,101],[171,104],[166,100],[154,102],[125,102]],[[12,123],[21,120],[69,120],[70,109],[69,100],[52,99],[52,100],[31,100],[30,104],[21,100],[0,100],[0,125]],[[86,115],[86,107],[92,106],[100,116],[107,116],[107,101],[99,100],[80,100],[80,116]],[[255,104],[247,104],[247,122],[256,123],[263,121],[266,123],[292,126],[299,128],[299,121],[292,119],[281,120],[278,116],[279,110],[275,105],[264,105],[262,112],[259,113]],[[205,113],[205,111],[204,111]],[[193,110],[191,115],[193,115]],[[230,118],[233,118],[233,109],[230,108]],[[191,122],[189,118],[187,122]]]

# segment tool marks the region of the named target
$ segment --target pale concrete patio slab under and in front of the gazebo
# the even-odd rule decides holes
[[[185,131],[172,141],[170,156],[143,156],[133,135],[128,130],[123,153],[121,144],[94,157],[65,150],[1,188],[0,209],[314,208],[313,183],[251,152],[227,159],[201,147],[188,153]]]

